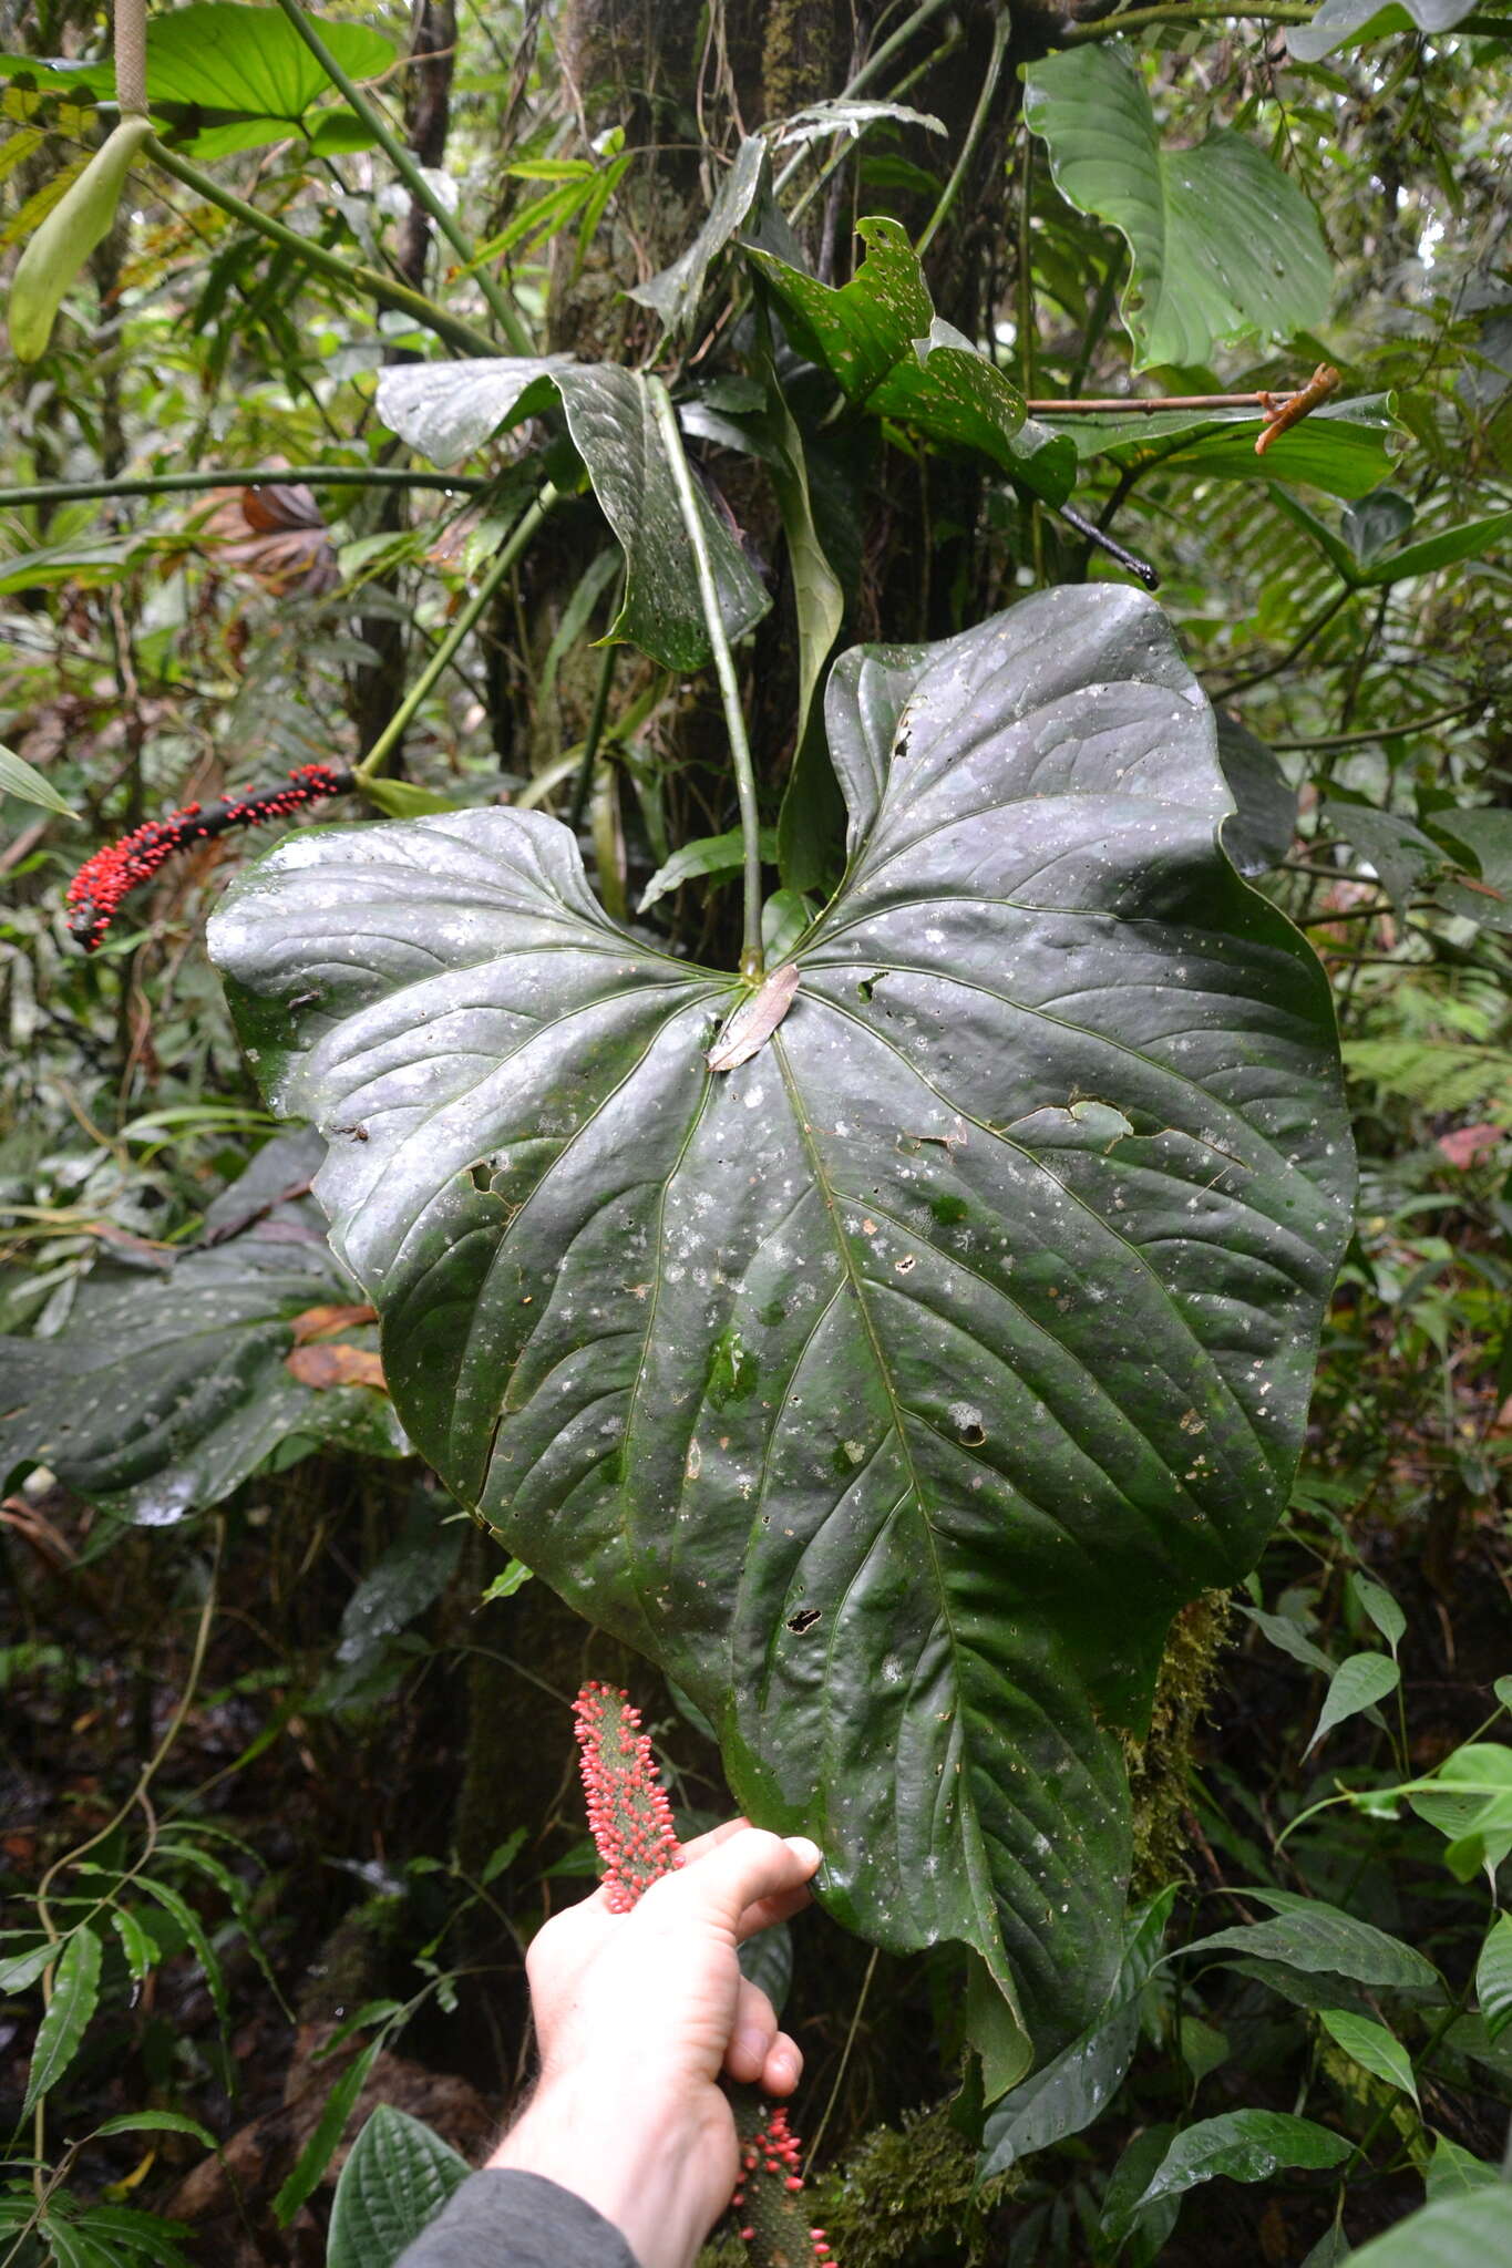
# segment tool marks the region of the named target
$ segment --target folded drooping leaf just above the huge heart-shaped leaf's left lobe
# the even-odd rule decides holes
[[[626,553],[626,596],[608,637],[623,637],[666,669],[700,669],[710,637],[698,574],[646,379],[614,363],[533,361],[413,363],[385,370],[379,417],[433,465],[478,449],[506,420],[560,399],[567,431]],[[698,494],[725,633],[741,637],[771,599],[725,522]]]

